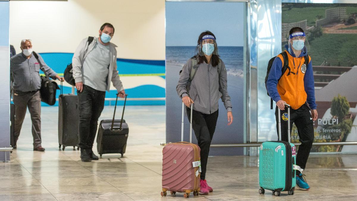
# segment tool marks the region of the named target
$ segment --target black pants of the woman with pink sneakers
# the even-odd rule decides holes
[[[190,121],[191,109],[187,109],[188,121]],[[192,110],[192,128],[195,132],[198,146],[201,148],[201,180],[206,177],[208,153],[210,152],[213,133],[215,133],[218,119],[218,110],[212,114],[203,114]]]

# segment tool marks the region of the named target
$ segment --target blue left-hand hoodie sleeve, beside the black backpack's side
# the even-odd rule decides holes
[[[279,57],[276,57],[271,66],[270,73],[267,80],[268,93],[275,102],[281,100],[280,94],[278,93],[278,89],[276,87],[278,85],[278,79],[281,77],[282,68],[283,68],[283,64],[281,59]]]

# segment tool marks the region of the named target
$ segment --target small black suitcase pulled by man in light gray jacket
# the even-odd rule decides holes
[[[124,101],[123,113],[121,120],[115,120],[116,103],[118,101],[118,94],[116,96],[114,115],[112,120],[102,120],[99,125],[97,135],[97,150],[100,156],[105,153],[120,153],[121,156],[125,153],[126,141],[128,139],[129,127],[123,119],[126,96]]]

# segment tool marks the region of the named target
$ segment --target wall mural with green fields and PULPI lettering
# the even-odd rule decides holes
[[[357,4],[282,4],[282,47],[301,27],[310,43],[318,119],[314,142],[357,141]],[[283,48],[285,49],[285,48]],[[292,127],[292,142],[299,142]],[[313,146],[312,152],[356,152],[357,146]]]

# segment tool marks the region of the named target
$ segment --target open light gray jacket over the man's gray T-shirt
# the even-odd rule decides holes
[[[84,59],[93,50],[94,45],[97,42],[97,38],[94,37],[92,43],[88,46],[88,38],[85,38],[81,41],[79,46],[76,49],[76,52],[72,58],[72,67],[73,67],[73,78],[75,82],[83,82],[82,79],[82,65]],[[118,92],[124,90],[123,84],[120,81],[117,66],[116,66],[116,45],[110,43],[110,65],[107,77],[107,87],[106,90],[109,92],[110,90],[110,82],[113,83],[113,86],[117,89]],[[87,50],[87,51],[86,51]]]

